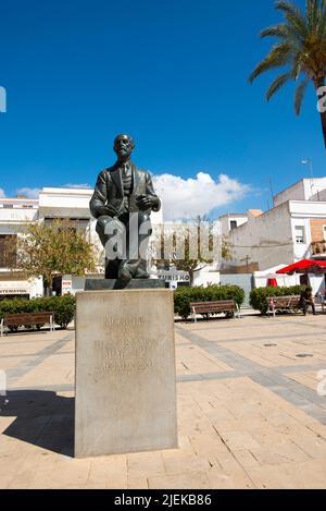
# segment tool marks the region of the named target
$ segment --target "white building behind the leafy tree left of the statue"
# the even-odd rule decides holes
[[[12,271],[4,256],[7,243],[16,244],[17,238],[23,235],[24,229],[29,223],[52,222],[55,219],[68,219],[76,228],[86,232],[88,240],[96,247],[99,259],[103,248],[96,233],[96,219],[89,211],[89,202],[93,191],[91,188],[59,188],[45,187],[38,199],[28,199],[23,196],[16,198],[0,198],[0,300],[4,297],[24,296],[36,297],[43,295],[41,278],[26,280],[20,271]],[[163,222],[162,210],[153,212],[152,223]],[[102,278],[104,264],[92,278]],[[76,276],[63,276],[57,282],[58,293],[75,294],[84,290],[85,278]],[[55,288],[55,282],[54,282]]]

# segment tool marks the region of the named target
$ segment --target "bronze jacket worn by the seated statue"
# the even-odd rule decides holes
[[[126,200],[126,197],[124,196],[122,171],[118,165],[115,163],[113,167],[100,172],[95,193],[89,204],[91,215],[95,218],[108,215],[108,209],[105,208],[106,205],[112,205],[118,210],[118,215],[123,215],[126,212],[139,211],[139,208],[136,205],[137,196],[152,195],[158,197],[149,172],[137,169],[135,163],[131,163],[131,169],[133,193],[129,200]],[[159,211],[160,209],[161,203],[159,199],[159,206],[154,207],[153,211]]]

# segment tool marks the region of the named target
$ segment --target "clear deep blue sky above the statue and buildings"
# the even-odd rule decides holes
[[[120,132],[141,167],[181,178],[180,194],[198,172],[226,174],[217,212],[265,209],[269,178],[278,192],[309,177],[302,158],[324,175],[313,89],[298,119],[292,86],[266,104],[272,76],[248,84],[271,46],[259,33],[278,21],[273,0],[2,2],[0,188],[93,185]]]

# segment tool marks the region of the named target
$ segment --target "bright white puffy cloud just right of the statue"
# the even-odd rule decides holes
[[[241,200],[250,186],[228,175],[218,175],[214,181],[210,174],[199,172],[196,179],[177,175],[154,177],[154,186],[163,202],[165,220],[179,220],[209,215],[216,208]]]

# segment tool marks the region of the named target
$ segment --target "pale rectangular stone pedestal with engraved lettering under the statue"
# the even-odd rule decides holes
[[[75,457],[176,448],[173,292],[76,300]]]

